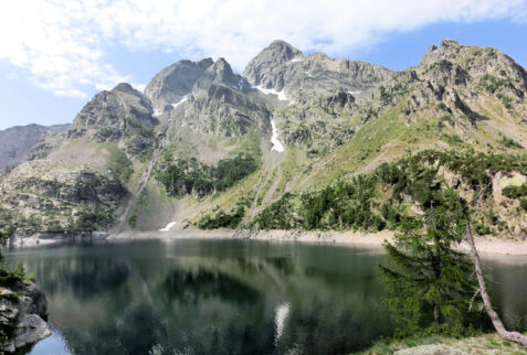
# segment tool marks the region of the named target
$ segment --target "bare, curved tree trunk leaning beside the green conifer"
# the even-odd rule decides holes
[[[499,319],[499,315],[496,313],[496,311],[494,311],[493,305],[491,304],[491,298],[488,297],[485,279],[483,278],[482,265],[479,262],[479,255],[477,254],[476,244],[474,243],[474,237],[472,235],[472,228],[471,228],[471,222],[468,219],[468,214],[466,211],[463,211],[463,215],[465,217],[465,223],[466,223],[466,239],[471,247],[471,257],[472,257],[472,261],[474,262],[474,269],[476,271],[477,283],[479,283],[479,292],[482,294],[485,310],[487,311],[487,314],[491,318],[491,321],[493,322],[494,327],[504,340],[518,343],[519,345],[527,347],[527,336],[518,332],[508,332],[503,325],[503,322]]]

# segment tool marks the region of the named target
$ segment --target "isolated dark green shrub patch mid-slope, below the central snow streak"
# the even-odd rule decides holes
[[[259,161],[253,154],[239,153],[220,160],[217,166],[205,165],[193,158],[178,159],[160,171],[156,179],[170,196],[204,196],[228,190],[257,168]]]

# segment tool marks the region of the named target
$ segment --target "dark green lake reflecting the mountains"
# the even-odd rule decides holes
[[[527,330],[527,257],[485,260],[506,323]],[[53,335],[30,354],[349,354],[389,336],[380,249],[156,239],[17,249]]]

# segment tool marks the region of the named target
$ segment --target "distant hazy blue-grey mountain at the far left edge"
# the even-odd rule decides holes
[[[0,171],[14,166],[31,152],[43,135],[56,135],[67,130],[70,125],[55,126],[15,126],[0,130]]]

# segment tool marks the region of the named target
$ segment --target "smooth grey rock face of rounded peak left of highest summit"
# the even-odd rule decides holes
[[[147,85],[145,95],[156,109],[164,110],[167,105],[179,103],[188,95],[213,63],[212,58],[200,62],[179,61],[159,72]]]

